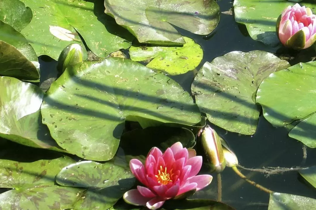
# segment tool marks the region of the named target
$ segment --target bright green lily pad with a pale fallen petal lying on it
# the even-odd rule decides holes
[[[104,6],[100,1],[23,2],[33,10],[33,19],[21,33],[30,40],[37,55],[45,54],[57,60],[67,45],[79,43],[84,49],[84,59],[87,58],[82,42],[60,40],[52,35],[50,26],[58,26],[72,33],[78,31],[88,47],[99,57],[106,57],[114,51],[131,46],[132,36],[117,26],[113,18],[104,14]],[[119,37],[121,34],[130,40]],[[76,36],[76,39],[80,40],[80,37]]]

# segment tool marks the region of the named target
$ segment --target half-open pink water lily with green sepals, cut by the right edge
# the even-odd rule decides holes
[[[288,6],[277,19],[276,34],[286,47],[308,48],[316,41],[316,15],[298,3]]]

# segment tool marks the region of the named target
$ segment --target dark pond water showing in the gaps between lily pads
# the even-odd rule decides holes
[[[276,49],[252,40],[252,38],[248,36],[246,28],[234,21],[234,16],[230,10],[233,6],[231,0],[218,0],[217,3],[222,12],[220,22],[215,31],[209,36],[198,36],[188,31],[178,29],[184,36],[193,38],[195,42],[200,44],[204,49],[203,61],[197,69],[206,61],[211,61],[217,56],[235,50],[264,50],[273,53],[276,52]],[[50,61],[50,59],[47,57],[43,57],[41,61],[41,78],[44,79],[57,76],[57,72],[53,71],[56,67],[56,62],[48,61]],[[179,82],[185,90],[191,92],[191,82],[193,81],[195,73],[196,71],[191,71],[172,78]],[[214,125],[212,125],[212,127],[216,128],[216,131],[228,141],[238,156],[240,165],[244,167],[293,167],[299,166],[302,162],[302,144],[295,139],[289,138],[289,131],[285,128],[273,128],[263,116],[260,117],[258,130],[253,136],[226,132]],[[38,159],[55,158],[57,156],[58,154],[51,151],[29,149],[9,141],[0,141],[0,158],[31,162]],[[307,160],[305,165],[314,165],[315,160],[316,150],[307,148]],[[208,173],[206,168],[202,169],[202,171],[203,173]],[[245,170],[242,170],[242,172],[253,181],[273,191],[316,199],[316,190],[309,186],[297,172],[287,172],[271,175],[269,177],[265,177],[264,174]],[[214,174],[212,184],[206,189],[197,192],[193,198],[215,200],[217,196],[216,183],[216,175]],[[222,172],[222,187],[223,202],[237,210],[266,210],[268,208],[269,195],[240,179],[231,168],[226,167]]]

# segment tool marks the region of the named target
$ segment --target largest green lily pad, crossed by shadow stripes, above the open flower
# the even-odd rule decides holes
[[[58,145],[89,160],[110,160],[127,116],[193,125],[201,115],[189,93],[163,74],[123,58],[65,70],[41,106]]]

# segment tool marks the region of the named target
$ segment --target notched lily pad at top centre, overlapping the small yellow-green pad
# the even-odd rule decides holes
[[[105,12],[127,28],[140,43],[184,44],[172,26],[207,35],[219,22],[219,6],[208,1],[105,0]]]

